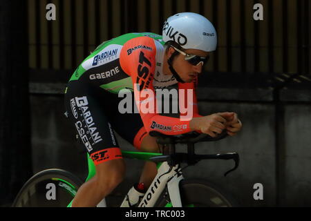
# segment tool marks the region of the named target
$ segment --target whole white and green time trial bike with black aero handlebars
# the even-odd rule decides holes
[[[216,153],[198,155],[195,144],[198,142],[212,142],[225,138],[223,131],[218,137],[206,134],[187,133],[184,135],[164,135],[158,131],[151,131],[156,137],[161,153],[145,153],[122,151],[123,157],[156,162],[158,174],[149,189],[135,204],[131,198],[137,197],[127,193],[121,207],[225,207],[238,206],[236,200],[229,193],[219,189],[207,180],[189,180],[184,177],[182,170],[187,166],[195,166],[200,160],[234,160],[235,166],[225,175],[238,168],[238,153]],[[176,151],[176,144],[187,144],[187,153]],[[95,175],[93,160],[87,155],[88,175],[85,182]],[[184,167],[182,167],[185,164]],[[12,206],[71,206],[71,202],[83,182],[73,173],[62,169],[48,169],[33,175],[23,185]],[[97,207],[107,206],[104,198]]]

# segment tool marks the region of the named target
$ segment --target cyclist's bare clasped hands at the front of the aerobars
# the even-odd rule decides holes
[[[226,128],[227,120],[220,114],[215,113],[205,117],[195,117],[190,121],[190,128],[193,131],[201,131],[211,137],[216,137]]]

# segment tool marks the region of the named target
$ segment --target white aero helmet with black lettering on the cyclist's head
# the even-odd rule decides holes
[[[213,24],[202,15],[182,12],[164,21],[164,42],[175,41],[184,49],[216,50],[217,33]]]

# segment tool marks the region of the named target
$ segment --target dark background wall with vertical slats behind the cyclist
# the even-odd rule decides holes
[[[47,3],[56,6],[55,21],[46,20]],[[263,21],[253,19],[255,3],[263,5]],[[82,179],[87,173],[85,153],[63,116],[66,82],[84,57],[126,32],[161,34],[165,18],[191,11],[205,15],[218,32],[218,49],[199,79],[200,113],[234,111],[243,131],[198,145],[198,153],[240,153],[237,171],[223,177],[231,162],[200,162],[185,175],[211,180],[243,206],[311,206],[310,1],[28,0],[23,10],[32,173],[51,167]],[[119,140],[122,148],[133,150]],[[116,201],[136,182],[142,166],[133,160],[126,164],[126,180],[112,194]],[[256,183],[263,184],[264,200],[253,198]]]

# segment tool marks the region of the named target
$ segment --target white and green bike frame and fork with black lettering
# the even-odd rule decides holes
[[[162,155],[162,153],[146,153],[146,152],[135,152],[135,151],[122,151],[122,156],[129,159],[149,161],[151,157]],[[88,159],[88,176],[86,181],[90,180],[96,173],[95,164],[91,157],[87,155]],[[165,186],[167,186],[171,204],[167,206],[181,207],[181,198],[179,191],[179,182],[184,179],[179,164],[176,166],[169,166],[167,162],[157,163],[158,174],[154,178],[153,182],[149,186],[144,198],[142,198],[138,207],[152,207],[156,204]],[[70,207],[68,204],[68,207]],[[105,198],[97,205],[97,207],[106,207]]]

